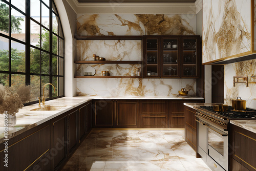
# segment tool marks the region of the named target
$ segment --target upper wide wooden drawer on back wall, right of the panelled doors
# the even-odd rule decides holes
[[[140,102],[140,114],[168,114],[165,100],[143,100]]]

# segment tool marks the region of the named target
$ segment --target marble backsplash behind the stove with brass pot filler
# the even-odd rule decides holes
[[[231,105],[231,99],[237,99],[240,96],[243,100],[247,100],[247,107],[256,109],[255,83],[249,83],[249,87],[246,87],[245,83],[236,83],[236,87],[233,87],[233,76],[248,76],[249,81],[255,82],[256,78],[251,78],[252,74],[256,75],[256,59],[225,66],[224,98],[226,104]]]

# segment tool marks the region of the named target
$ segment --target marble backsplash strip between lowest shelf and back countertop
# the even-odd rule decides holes
[[[77,96],[176,97],[182,87],[196,96],[196,79],[79,78]]]

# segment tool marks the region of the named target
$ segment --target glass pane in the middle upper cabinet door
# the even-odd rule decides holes
[[[163,39],[163,75],[178,75],[178,39]]]

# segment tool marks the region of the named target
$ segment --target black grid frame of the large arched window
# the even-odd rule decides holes
[[[4,37],[4,38],[7,38],[9,39],[9,69],[8,71],[1,71],[0,70],[0,74],[8,74],[9,75],[9,86],[11,86],[11,76],[13,74],[18,74],[18,75],[25,75],[25,84],[26,85],[30,85],[31,84],[31,75],[35,75],[35,76],[40,76],[40,97],[42,98],[42,76],[49,76],[50,80],[49,82],[52,83],[53,82],[53,77],[57,77],[58,81],[58,85],[57,85],[57,96],[56,97],[52,97],[53,94],[52,94],[52,90],[53,90],[53,87],[50,86],[49,87],[49,98],[47,98],[46,100],[52,100],[52,99],[57,99],[57,98],[61,98],[61,97],[65,97],[65,37],[63,35],[63,29],[62,29],[62,25],[61,25],[61,22],[60,22],[60,17],[59,17],[59,14],[58,14],[58,11],[57,11],[57,8],[56,8],[56,5],[54,3],[53,0],[49,0],[49,7],[47,4],[44,3],[43,0],[38,0],[40,2],[40,23],[37,22],[34,18],[31,17],[30,15],[30,0],[25,0],[25,6],[26,6],[26,11],[25,13],[22,11],[22,10],[19,10],[17,7],[13,6],[11,4],[11,0],[6,1],[6,0],[0,0],[1,3],[5,3],[8,7],[9,7],[9,29],[8,29],[8,35],[5,35],[5,34],[2,34],[0,33],[0,36]],[[49,28],[45,27],[42,22],[41,22],[41,10],[42,10],[42,5],[45,5],[47,8],[49,8]],[[54,9],[56,11],[53,10],[53,6],[54,6]],[[18,40],[14,37],[12,37],[11,35],[11,8],[17,10],[19,13],[22,13],[23,15],[25,15],[25,25],[26,25],[26,34],[25,34],[25,42],[22,41],[22,40]],[[58,17],[58,33],[56,34],[55,32],[53,32],[53,14],[55,16]],[[31,45],[31,25],[30,25],[30,20],[32,20],[33,22],[35,22],[36,24],[38,24],[40,26],[40,47],[36,47],[34,45]],[[42,28],[46,29],[49,31],[49,35],[50,35],[50,40],[49,40],[49,50],[50,51],[47,51],[47,50],[44,50],[41,48],[42,46],[42,38],[41,38],[41,33],[42,33]],[[57,44],[58,44],[58,49],[57,49],[57,54],[53,53],[52,51],[52,45],[53,45],[53,35],[54,36],[57,36]],[[62,49],[62,54],[63,56],[60,56],[60,39],[62,39],[63,41],[63,45],[61,47],[63,47]],[[14,40],[15,42],[18,42],[20,44],[23,44],[25,45],[25,72],[13,72],[11,71],[11,41]],[[31,48],[34,48],[34,49],[37,49],[40,51],[40,73],[31,73],[31,70],[30,70],[30,49]],[[41,54],[42,52],[46,52],[46,53],[49,53],[50,54],[50,62],[49,62],[49,74],[42,74],[42,70],[41,70],[41,63],[42,63],[42,60],[41,60]],[[53,55],[54,57],[56,56],[57,57],[57,60],[59,60],[60,58],[63,59],[63,63],[62,63],[62,71],[61,71],[61,75],[60,75],[60,72],[58,71],[56,75],[53,74],[53,62],[52,62],[52,59],[53,59]],[[58,66],[57,66],[57,69],[60,70],[59,67],[60,66],[60,63],[58,62]],[[61,94],[62,95],[59,95],[60,94],[60,78],[63,78],[62,79],[62,83],[63,83],[63,86],[62,86],[62,92]],[[56,85],[55,85],[56,86]],[[24,105],[30,105],[30,104],[34,104],[34,103],[38,103],[38,100],[35,100],[35,101],[30,101]]]

